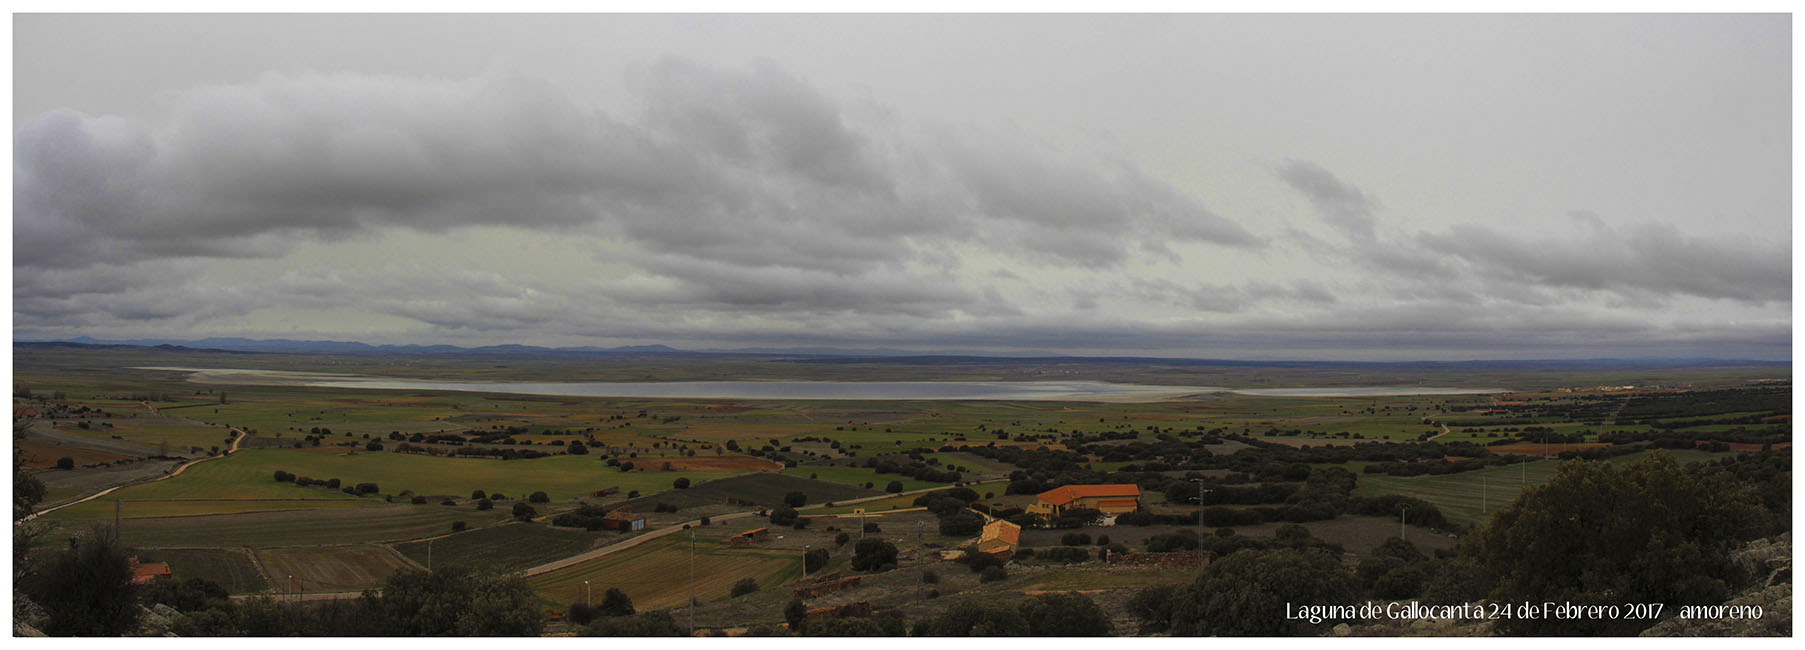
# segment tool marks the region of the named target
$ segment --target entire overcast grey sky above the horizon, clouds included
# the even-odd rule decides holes
[[[1792,356],[1783,14],[14,14],[14,339]]]

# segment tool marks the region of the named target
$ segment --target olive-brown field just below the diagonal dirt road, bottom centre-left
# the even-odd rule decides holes
[[[715,538],[695,543],[695,598],[704,603],[727,598],[742,578],[773,589],[801,576],[801,552],[738,549]],[[592,603],[601,603],[608,589],[619,589],[641,612],[680,607],[690,596],[690,540],[652,540],[527,581],[542,599],[560,607],[583,599],[583,581],[588,581]]]

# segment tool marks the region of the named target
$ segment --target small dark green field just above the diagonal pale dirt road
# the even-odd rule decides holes
[[[522,571],[545,562],[567,558],[596,545],[596,540],[612,540],[619,533],[588,533],[578,529],[560,529],[543,524],[505,524],[478,531],[457,533],[428,542],[397,543],[395,551],[408,560],[426,565],[467,565],[489,567],[496,571]],[[431,549],[428,552],[428,547]]]

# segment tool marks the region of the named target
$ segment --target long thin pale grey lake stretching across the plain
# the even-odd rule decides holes
[[[558,397],[688,397],[688,399],[1067,399],[1067,401],[1161,401],[1197,394],[1231,392],[1269,397],[1363,397],[1363,395],[1471,395],[1502,388],[1437,386],[1336,386],[1336,388],[1229,388],[1155,386],[1108,381],[431,381],[321,372],[173,368],[199,383],[283,385],[359,390],[455,390]]]

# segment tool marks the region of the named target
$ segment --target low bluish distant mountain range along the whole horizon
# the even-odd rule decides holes
[[[1070,356],[1052,352],[986,352],[967,350],[893,350],[893,348],[702,348],[680,350],[668,345],[623,345],[623,347],[538,347],[538,345],[370,345],[359,341],[300,341],[300,339],[249,339],[249,338],[204,338],[204,339],[96,339],[76,336],[70,339],[13,341],[14,347],[150,347],[166,350],[213,350],[213,352],[278,352],[278,354],[421,354],[421,356],[785,356],[807,358],[809,363],[861,363],[883,359],[884,363],[940,365],[940,363],[984,363],[984,361],[1081,361],[1081,363],[1161,363],[1161,365],[1217,365],[1217,367],[1393,367],[1393,368],[1446,368],[1446,367],[1491,367],[1491,368],[1621,368],[1621,367],[1709,367],[1709,365],[1753,365],[1787,368],[1791,361],[1754,361],[1754,359],[1713,359],[1713,358],[1635,358],[1635,359],[1471,359],[1471,361],[1253,361],[1253,359],[1179,359],[1179,358],[1134,358],[1134,356]]]

